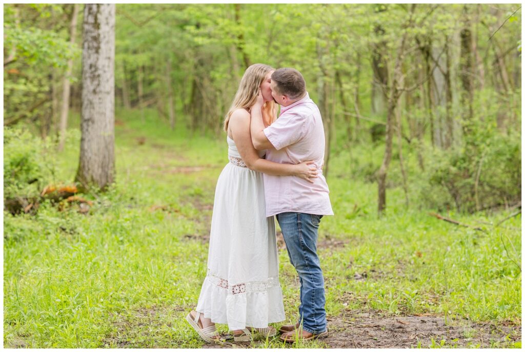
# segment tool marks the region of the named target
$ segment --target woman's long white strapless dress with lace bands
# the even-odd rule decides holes
[[[244,165],[232,138],[227,142],[230,162],[215,188],[208,270],[197,311],[230,330],[264,328],[285,319],[275,221],[266,217],[262,174]]]

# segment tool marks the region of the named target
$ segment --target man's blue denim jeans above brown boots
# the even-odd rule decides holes
[[[321,218],[322,215],[302,212],[277,214],[290,263],[299,274],[299,323],[302,319],[303,330],[312,334],[327,331],[324,278],[317,256],[317,230]]]

